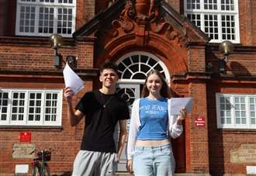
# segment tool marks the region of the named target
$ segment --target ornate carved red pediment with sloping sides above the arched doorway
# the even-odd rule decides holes
[[[98,53],[110,55],[129,46],[156,46],[153,40],[161,40],[164,47],[184,50],[185,57],[189,43],[209,41],[205,33],[163,0],[117,0],[74,33],[75,38],[87,36],[98,41]],[[124,44],[126,47],[120,47]]]

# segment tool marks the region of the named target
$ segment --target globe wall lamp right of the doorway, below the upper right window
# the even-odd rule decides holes
[[[226,73],[226,64],[228,62],[228,56],[234,50],[234,44],[231,43],[229,40],[224,40],[219,45],[219,51],[223,53],[224,57],[220,59],[220,73]]]

